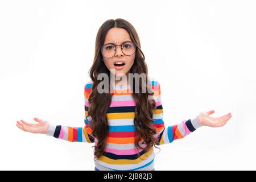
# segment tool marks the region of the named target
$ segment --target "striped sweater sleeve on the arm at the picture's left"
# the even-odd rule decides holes
[[[52,125],[50,124],[48,127],[47,135],[67,140],[69,142],[88,142],[93,143],[94,137],[92,135],[92,129],[90,128],[89,121],[86,119],[88,116],[88,98],[89,98],[89,90],[90,84],[86,84],[84,87],[84,99],[85,99],[85,125],[84,127],[70,127],[70,126],[62,126],[62,125]],[[88,117],[90,118],[90,117]]]

